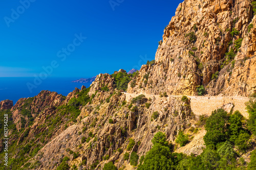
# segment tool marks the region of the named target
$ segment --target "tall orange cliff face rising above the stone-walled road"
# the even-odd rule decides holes
[[[140,70],[147,83],[138,77],[127,91],[197,95],[203,85],[208,95],[249,96],[256,91],[255,20],[250,1],[184,1],[164,29],[155,65]]]

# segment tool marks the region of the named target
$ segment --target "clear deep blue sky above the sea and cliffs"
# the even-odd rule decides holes
[[[47,70],[51,77],[89,78],[138,69],[155,58],[181,2],[2,0],[0,77]]]

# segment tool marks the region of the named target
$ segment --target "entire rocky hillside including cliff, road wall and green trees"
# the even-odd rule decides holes
[[[67,96],[0,102],[8,168],[255,169],[253,9],[185,0],[139,71],[99,74]]]

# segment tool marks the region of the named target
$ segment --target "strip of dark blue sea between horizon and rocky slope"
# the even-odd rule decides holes
[[[71,83],[80,78],[47,78],[35,81],[34,77],[0,78],[0,101],[9,99],[13,105],[20,98],[37,95],[41,90],[56,91],[58,94],[68,95],[75,87],[90,87],[91,83]],[[35,81],[35,82],[34,82]]]

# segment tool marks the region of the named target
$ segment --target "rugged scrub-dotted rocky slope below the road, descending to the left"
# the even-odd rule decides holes
[[[101,90],[105,86],[110,90]],[[20,99],[9,114],[15,125],[10,133],[10,166],[31,169],[55,169],[66,156],[70,166],[79,169],[99,169],[106,161],[117,159],[121,167],[127,163],[125,152],[145,154],[150,150],[156,131],[164,131],[174,141],[177,132],[188,128],[193,119],[189,101],[143,95],[125,101],[109,74],[98,75],[90,88],[76,88],[67,98],[41,91],[34,98]],[[130,139],[135,143],[127,149]]]

